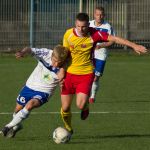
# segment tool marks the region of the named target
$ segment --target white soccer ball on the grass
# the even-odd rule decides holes
[[[58,127],[53,132],[53,140],[55,143],[67,143],[71,138],[70,132],[63,127]]]

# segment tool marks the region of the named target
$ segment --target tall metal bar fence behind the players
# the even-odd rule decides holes
[[[149,0],[0,0],[0,50],[53,47],[78,12],[102,5],[116,35],[150,47]]]

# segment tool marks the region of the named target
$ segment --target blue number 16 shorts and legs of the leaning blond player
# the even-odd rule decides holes
[[[39,107],[41,104],[47,102],[48,96],[49,95],[46,93],[33,91],[32,89],[25,86],[20,92],[19,96],[17,97],[18,105],[15,109],[16,113],[14,113],[14,117],[1,130],[1,134],[3,136],[7,136],[10,130],[13,130],[15,126],[19,125],[22,122],[22,120],[26,119],[29,116],[29,113],[33,108]]]

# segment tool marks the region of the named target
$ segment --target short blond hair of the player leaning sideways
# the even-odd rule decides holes
[[[59,61],[65,61],[68,58],[69,49],[62,45],[57,45],[53,49],[53,56],[56,57]]]

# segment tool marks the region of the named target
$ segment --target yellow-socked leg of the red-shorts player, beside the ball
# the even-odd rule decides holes
[[[71,126],[71,103],[72,95],[61,95],[61,117],[64,122],[65,128],[72,133],[73,129]]]

